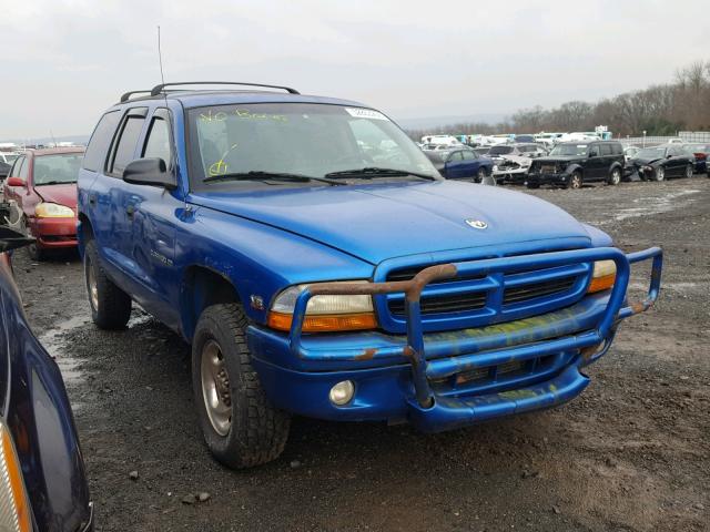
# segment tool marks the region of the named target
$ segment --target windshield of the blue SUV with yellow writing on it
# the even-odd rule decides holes
[[[365,167],[402,171],[404,176],[387,177],[399,181],[407,178],[407,172],[440,178],[397,125],[369,109],[314,103],[219,105],[190,110],[189,122],[191,178],[196,188],[304,186],[295,181],[265,184],[268,180],[263,174],[324,177]],[[261,175],[214,180],[250,172]],[[348,174],[347,178],[354,177]]]

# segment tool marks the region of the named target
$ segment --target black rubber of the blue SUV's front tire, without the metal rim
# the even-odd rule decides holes
[[[239,304],[219,304],[207,307],[201,315],[195,329],[195,339],[201,335],[207,321],[214,321],[225,326],[232,336],[239,360],[237,375],[230,370],[230,387],[232,388],[232,427],[225,437],[230,443],[224,452],[212,448],[210,438],[205,437],[207,447],[215,458],[224,466],[232,469],[251,468],[271,462],[281,456],[291,427],[291,417],[274,408],[264,392],[258,374],[252,366],[252,357],[246,344],[246,327],[248,321]],[[222,346],[223,347],[223,346]],[[224,347],[223,347],[224,348]],[[199,408],[203,409],[202,389],[199,376],[199,360],[201,344],[193,341],[193,386],[195,386],[195,400]],[[225,354],[226,356],[226,354]],[[234,368],[234,364],[231,365]],[[237,386],[242,387],[239,389]],[[212,430],[206,413],[200,412],[205,418],[202,422],[203,431]],[[216,433],[213,437],[221,438]]]

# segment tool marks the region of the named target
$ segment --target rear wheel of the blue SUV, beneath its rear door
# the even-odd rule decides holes
[[[106,276],[93,239],[84,249],[84,279],[93,323],[100,329],[123,329],[131,317],[131,298]]]

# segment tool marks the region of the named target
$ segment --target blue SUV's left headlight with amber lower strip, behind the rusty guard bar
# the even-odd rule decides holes
[[[348,283],[368,282],[352,280]],[[267,324],[271,328],[291,330],[296,299],[306,286],[308,285],[291,286],[276,296],[268,313]],[[368,295],[313,296],[308,300],[303,321],[304,332],[362,330],[376,327],[373,298]]]

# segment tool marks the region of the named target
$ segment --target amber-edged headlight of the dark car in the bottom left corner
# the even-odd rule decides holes
[[[0,421],[0,530],[30,532],[30,502],[10,430]]]

